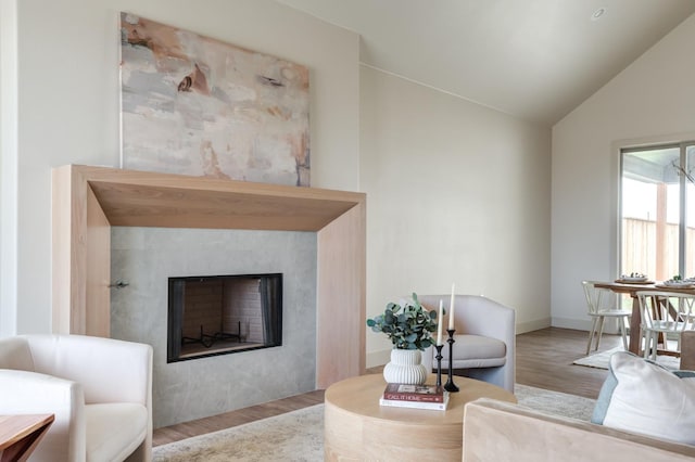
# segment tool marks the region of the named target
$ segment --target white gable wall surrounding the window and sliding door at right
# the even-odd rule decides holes
[[[553,325],[589,329],[580,282],[618,274],[621,145],[695,139],[695,16],[553,128]]]

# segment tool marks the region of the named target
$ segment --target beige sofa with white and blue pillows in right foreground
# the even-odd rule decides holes
[[[683,349],[684,358],[692,350]],[[695,458],[695,372],[610,357],[591,422],[479,399],[464,411],[464,461],[616,462]]]

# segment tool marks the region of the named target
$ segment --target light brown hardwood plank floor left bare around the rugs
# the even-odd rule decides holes
[[[517,383],[596,398],[608,371],[572,365],[584,356],[589,333],[548,328],[517,335]],[[620,345],[619,335],[604,335],[599,350]],[[372,368],[368,373],[380,373]],[[154,446],[202,435],[324,402],[324,390],[283,398],[224,414],[154,431]]]

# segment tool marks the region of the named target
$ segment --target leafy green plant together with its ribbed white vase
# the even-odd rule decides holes
[[[389,303],[383,313],[367,319],[367,326],[387,334],[393,344],[391,362],[383,368],[387,382],[424,384],[428,371],[420,351],[433,345],[431,333],[437,330],[437,311],[425,309],[413,293],[413,300],[402,305]]]

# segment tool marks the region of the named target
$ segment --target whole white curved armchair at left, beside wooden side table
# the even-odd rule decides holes
[[[81,335],[0,339],[0,414],[53,413],[33,462],[150,461],[152,347]]]

